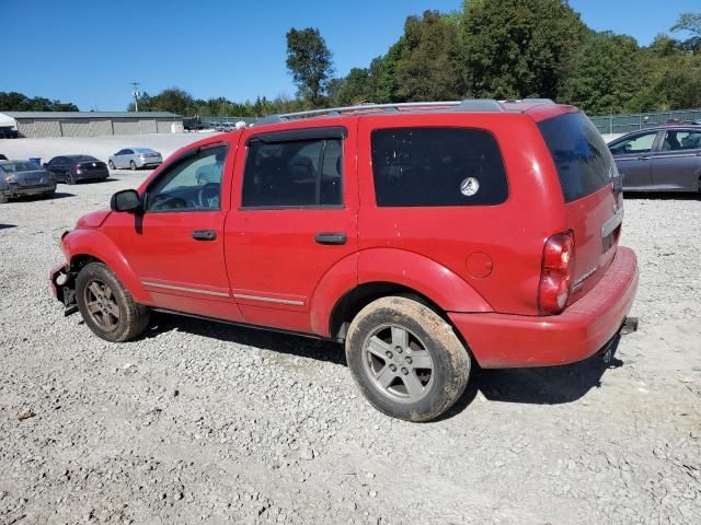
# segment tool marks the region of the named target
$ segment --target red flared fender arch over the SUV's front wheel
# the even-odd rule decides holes
[[[129,291],[135,301],[151,304],[151,294],[141,285],[141,281],[127,262],[119,248],[100,230],[71,230],[64,240],[64,252],[70,261],[79,255],[90,255],[110,267]]]

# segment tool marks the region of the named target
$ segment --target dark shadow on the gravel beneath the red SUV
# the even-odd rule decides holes
[[[344,347],[333,341],[174,314],[154,313],[151,328],[142,337],[149,339],[174,329],[220,341],[347,366]],[[479,393],[482,393],[487,401],[526,405],[561,405],[576,401],[591,388],[598,388],[601,385],[601,376],[608,369],[623,364],[616,358],[619,343],[620,336],[617,336],[611,341],[611,360],[608,363],[605,362],[601,352],[597,352],[585,361],[563,366],[481,370],[474,365],[463,395],[435,421],[451,419],[461,413],[474,401]]]

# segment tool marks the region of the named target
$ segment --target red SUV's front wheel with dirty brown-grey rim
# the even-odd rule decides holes
[[[134,301],[117,276],[102,262],[90,262],[80,270],[76,299],[88,327],[106,341],[128,341],[149,325],[150,310]]]

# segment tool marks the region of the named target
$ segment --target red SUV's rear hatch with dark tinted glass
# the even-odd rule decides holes
[[[574,232],[573,288],[568,304],[582,298],[613,260],[623,219],[621,179],[613,158],[584,113],[538,124],[555,163]]]

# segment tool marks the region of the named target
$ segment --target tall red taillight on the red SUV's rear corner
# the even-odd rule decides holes
[[[574,235],[559,233],[545,241],[538,289],[538,311],[541,315],[559,314],[565,308],[572,292],[574,271]]]

